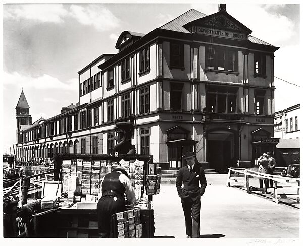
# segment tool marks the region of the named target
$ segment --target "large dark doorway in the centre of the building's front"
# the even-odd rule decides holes
[[[228,131],[213,131],[207,136],[207,159],[210,168],[227,173],[235,164],[234,134]]]

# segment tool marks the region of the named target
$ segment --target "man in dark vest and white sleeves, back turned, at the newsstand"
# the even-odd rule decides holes
[[[135,193],[122,166],[117,166],[106,174],[100,186],[102,196],[97,204],[98,234],[99,238],[111,238],[111,216],[125,211],[127,203],[134,204]]]

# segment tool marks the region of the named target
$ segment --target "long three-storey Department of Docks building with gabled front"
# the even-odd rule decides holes
[[[209,16],[191,9],[147,34],[122,32],[117,54],[78,72],[77,105],[31,124],[29,106],[23,110],[19,99],[18,160],[111,153],[115,124],[133,121],[137,153],[152,154],[164,170],[180,168],[188,149],[221,173],[238,160],[253,166],[279,142],[273,138],[278,47],[251,32],[226,5]]]

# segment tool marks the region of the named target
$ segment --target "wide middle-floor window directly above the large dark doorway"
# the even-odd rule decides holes
[[[209,86],[206,108],[210,113],[236,113],[238,88]]]

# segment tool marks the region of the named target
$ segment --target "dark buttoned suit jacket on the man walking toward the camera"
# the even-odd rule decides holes
[[[199,186],[201,183],[201,187]],[[181,188],[183,183],[183,188]],[[195,200],[200,197],[201,192],[204,192],[207,185],[204,170],[200,163],[195,163],[192,172],[188,170],[188,166],[179,169],[176,187],[181,198],[190,197]]]

